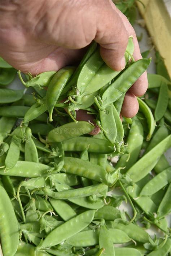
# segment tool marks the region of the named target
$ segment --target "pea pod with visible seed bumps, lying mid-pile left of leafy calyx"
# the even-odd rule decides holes
[[[76,174],[94,181],[103,182],[106,180],[106,171],[101,166],[76,157],[64,157],[64,165],[67,173]]]

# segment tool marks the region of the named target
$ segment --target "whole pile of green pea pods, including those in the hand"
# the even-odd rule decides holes
[[[4,87],[17,71],[0,59],[4,256],[170,255],[171,167],[163,153],[171,146],[171,82],[157,53],[138,114],[121,122],[124,95],[150,64],[132,53],[130,38],[126,68],[116,72],[93,42],[77,68],[34,78],[19,72],[32,95]],[[101,133],[88,134],[94,125],[76,121],[78,109],[94,116]],[[123,201],[131,216],[118,209]],[[151,225],[161,237],[148,235]]]

